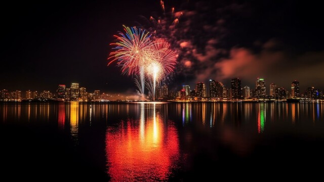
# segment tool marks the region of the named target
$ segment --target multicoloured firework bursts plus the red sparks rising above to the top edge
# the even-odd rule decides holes
[[[164,1],[160,1],[160,6],[165,17],[162,20],[160,17],[149,18],[153,25],[149,28],[152,34],[143,29],[124,26],[125,33],[115,35],[117,41],[111,43],[115,51],[108,58],[111,59],[109,64],[117,62],[123,74],[135,76],[135,85],[142,96],[146,85],[153,100],[156,85],[175,69],[177,54],[171,50],[167,40],[182,16],[181,12],[175,12],[174,7],[166,14]],[[170,14],[171,17],[167,18]]]

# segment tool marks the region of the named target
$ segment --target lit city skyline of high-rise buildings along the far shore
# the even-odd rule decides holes
[[[249,85],[242,85],[240,78],[232,78],[231,84],[226,86],[220,81],[215,81],[210,79],[209,85],[206,86],[204,82],[197,82],[194,89],[190,89],[189,85],[182,85],[180,90],[169,88],[167,84],[156,85],[156,93],[154,97],[156,100],[166,101],[166,100],[178,100],[180,101],[194,101],[201,100],[207,101],[206,98],[212,101],[213,98],[218,99],[230,99],[231,101],[247,100],[247,99],[324,99],[324,90],[320,90],[313,86],[308,86],[304,91],[300,91],[300,85],[298,80],[293,80],[291,82],[291,88],[286,89],[281,85],[275,83],[268,84],[267,87],[266,79],[257,78],[255,82],[255,87]],[[168,90],[170,90],[168,92]],[[100,95],[100,90],[96,89],[93,93],[88,93],[87,88],[84,86],[79,86],[79,83],[71,83],[70,87],[66,87],[65,84],[59,84],[56,91],[51,93],[49,90],[43,90],[42,92],[37,92],[37,90],[26,90],[23,92],[21,90],[0,90],[0,100],[1,101],[17,101],[21,99],[62,99],[65,101],[100,101],[106,97],[112,97],[116,93],[103,92]],[[125,95],[126,100],[142,100],[143,96],[139,93],[137,94],[121,94]],[[145,100],[153,100],[154,98],[150,93],[144,95]],[[140,99],[142,98],[142,99]],[[194,99],[195,98],[195,99]],[[204,99],[205,98],[205,99]],[[109,100],[109,99],[108,99]],[[119,99],[118,99],[119,100]],[[123,100],[123,99],[122,99]]]

